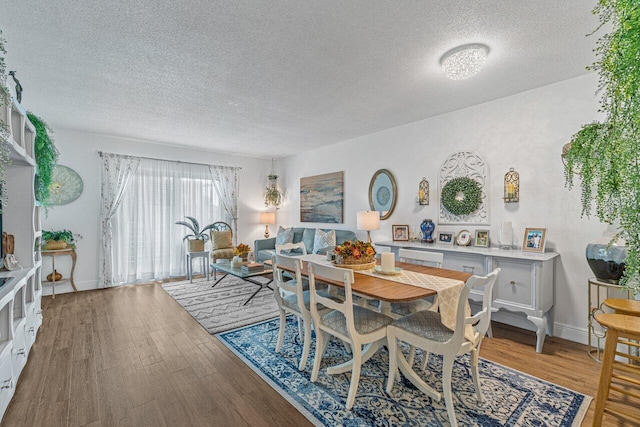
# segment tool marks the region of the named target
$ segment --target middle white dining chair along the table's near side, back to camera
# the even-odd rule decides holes
[[[327,369],[327,374],[339,374],[351,371],[351,383],[347,395],[346,408],[351,410],[356,398],[360,369],[383,344],[386,344],[386,328],[393,319],[377,311],[353,304],[351,286],[353,270],[336,268],[309,262],[309,288],[311,291],[311,316],[316,327],[316,354],[313,361],[311,381],[318,379],[320,362],[324,354],[329,335],[339,338],[351,346],[353,358],[342,365]],[[344,301],[327,298],[317,289],[317,280],[329,280],[344,284]],[[328,313],[318,310],[318,304],[331,309]],[[363,345],[365,346],[363,348]]]

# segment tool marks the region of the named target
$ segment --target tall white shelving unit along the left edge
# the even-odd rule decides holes
[[[0,271],[10,278],[0,286],[0,416],[4,415],[29,351],[42,324],[40,207],[34,193],[36,131],[26,111],[15,100],[0,107],[0,121],[11,135],[11,165],[7,166],[8,205],[2,228],[15,237],[20,268]]]

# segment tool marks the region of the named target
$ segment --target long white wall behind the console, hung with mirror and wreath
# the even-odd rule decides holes
[[[393,215],[372,238],[390,240],[392,224],[418,227],[424,218],[438,218],[442,162],[457,151],[476,151],[489,165],[492,244],[502,221],[513,222],[519,244],[525,227],[547,228],[547,250],[560,253],[555,334],[586,342],[587,279],[592,273],[584,250],[606,227],[580,217],[580,191],[565,188],[560,153],[572,134],[598,118],[596,88],[597,76],[589,74],[283,159],[278,169],[286,201],[278,223],[299,224],[301,177],[344,171],[345,221],[336,228],[355,230],[356,212],[368,209],[369,181],[376,170],[386,168],[398,183],[398,200]],[[518,204],[501,199],[510,167],[520,173]],[[430,183],[429,206],[417,204],[422,177]],[[436,232],[462,228],[487,227],[442,225]],[[358,236],[366,237],[364,232]]]

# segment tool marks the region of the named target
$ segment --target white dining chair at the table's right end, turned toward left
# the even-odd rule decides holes
[[[500,269],[496,268],[486,276],[472,276],[467,280],[458,299],[455,331],[442,324],[439,313],[429,310],[409,314],[394,321],[387,327],[387,339],[389,341],[387,393],[391,393],[393,389],[399,367],[402,374],[430,398],[439,402],[442,395],[444,395],[449,422],[452,427],[455,427],[457,422],[451,394],[453,364],[457,356],[470,353],[471,376],[476,389],[476,397],[478,402],[482,402],[482,390],[480,389],[478,376],[478,353],[482,339],[491,322],[491,292],[499,273]],[[473,288],[481,287],[484,288],[482,309],[475,315],[467,317],[465,313],[469,291]],[[466,325],[473,326],[473,339],[471,341],[465,338]],[[409,365],[404,354],[399,349],[398,340],[405,341],[428,353],[442,355],[442,393],[429,386],[413,370],[413,367]]]

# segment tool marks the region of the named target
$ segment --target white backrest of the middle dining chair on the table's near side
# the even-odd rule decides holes
[[[322,265],[315,262],[307,264],[309,269],[309,290],[311,291],[311,312],[313,313],[316,304],[321,304],[327,308],[338,310],[347,319],[347,326],[351,333],[355,332],[353,320],[353,295],[351,293],[351,285],[353,285],[353,270],[348,268],[337,268],[328,265]],[[344,284],[343,301],[331,299],[326,293],[317,292],[317,281],[326,279],[331,282],[339,282]]]

